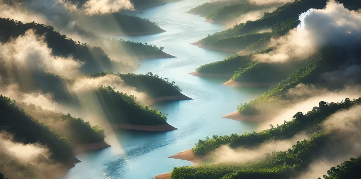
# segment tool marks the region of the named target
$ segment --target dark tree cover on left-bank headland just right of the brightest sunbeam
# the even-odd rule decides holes
[[[99,106],[112,124],[161,125],[167,115],[156,109],[135,102],[136,97],[115,91],[112,87],[101,87],[95,91]]]

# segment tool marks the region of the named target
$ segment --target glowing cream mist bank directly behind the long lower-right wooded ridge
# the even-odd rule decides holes
[[[287,91],[285,99],[273,99],[268,104],[256,106],[256,109],[261,112],[255,117],[258,122],[257,131],[269,129],[270,124],[276,126],[283,124],[284,121],[290,121],[297,112],[311,111],[320,101],[341,102],[345,98],[359,97],[361,97],[359,85],[329,90],[315,85],[298,84]]]

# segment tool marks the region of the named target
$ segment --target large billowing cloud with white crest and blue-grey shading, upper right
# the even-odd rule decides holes
[[[300,15],[299,20],[299,26],[287,35],[270,40],[268,46],[277,49],[268,54],[254,55],[253,60],[277,63],[305,59],[324,45],[350,48],[361,40],[361,14],[334,0],[328,1],[325,9],[309,9]]]

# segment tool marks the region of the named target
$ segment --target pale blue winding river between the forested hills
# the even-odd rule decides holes
[[[135,73],[153,72],[175,81],[182,93],[193,100],[161,102],[153,105],[168,113],[168,123],[179,128],[166,133],[117,131],[107,142],[113,147],[78,155],[75,165],[64,179],[150,179],[169,172],[174,166],[191,162],[167,158],[190,149],[198,141],[213,134],[229,135],[253,131],[252,122],[221,118],[236,111],[238,104],[256,98],[264,88],[242,88],[222,85],[227,79],[209,79],[188,75],[202,64],[220,61],[232,55],[198,48],[189,43],[207,34],[225,30],[219,24],[187,14],[192,7],[207,0],[183,0],[148,9],[137,14],[159,24],[167,32],[137,37],[119,37],[164,46],[164,51],[177,58],[142,61]],[[117,147],[115,147],[117,146]]]

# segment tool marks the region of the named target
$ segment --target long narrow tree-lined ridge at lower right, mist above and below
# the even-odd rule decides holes
[[[230,147],[246,147],[251,148],[265,142],[267,140],[281,140],[290,139],[300,131],[308,131],[313,133],[320,127],[319,124],[323,122],[328,116],[341,109],[348,109],[355,104],[361,104],[361,98],[350,100],[345,99],[341,103],[326,103],[319,102],[318,107],[313,107],[311,111],[306,114],[302,112],[296,113],[290,121],[284,121],[283,124],[277,127],[271,125],[268,130],[261,131],[260,133],[244,133],[242,135],[232,134],[230,136],[217,136],[213,135],[212,138],[206,140],[199,140],[196,146],[192,148],[195,155],[206,155],[221,145],[230,144]]]

